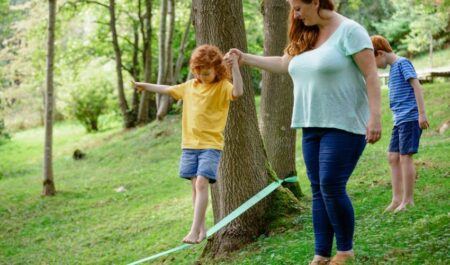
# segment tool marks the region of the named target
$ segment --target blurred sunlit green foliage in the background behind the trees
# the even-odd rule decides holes
[[[114,76],[109,67],[114,61],[111,45],[108,9],[92,2],[108,1],[61,0],[58,1],[55,97],[59,119],[70,119],[66,106],[71,88],[66,84],[80,83],[83,71],[96,71],[101,76]],[[141,0],[143,4],[143,0]],[[158,65],[158,27],[160,1],[152,1],[152,75],[156,82]],[[449,45],[449,0],[337,0],[342,14],[360,22],[370,34],[386,35],[396,51],[416,55],[428,49],[428,32],[433,32],[437,49]],[[263,54],[263,17],[261,0],[243,1],[245,27],[249,52]],[[134,33],[139,23],[139,1],[116,0],[117,29],[122,50],[125,87],[128,88],[133,69]],[[174,61],[179,55],[181,38],[190,15],[190,0],[176,1]],[[141,6],[143,8],[143,5]],[[143,9],[141,9],[143,10]],[[142,14],[141,14],[142,15]],[[446,22],[447,21],[447,22]],[[430,31],[427,31],[430,29]],[[38,126],[43,121],[43,95],[45,88],[45,45],[47,35],[47,5],[42,0],[0,0],[0,104],[2,117],[10,130]],[[143,78],[142,33],[138,32],[138,79]],[[195,48],[194,29],[191,27],[183,67],[177,83],[188,76],[188,61]],[[226,51],[225,51],[226,52]],[[438,58],[436,58],[438,60]],[[252,84],[259,92],[261,71],[252,68]],[[60,85],[64,84],[64,85]],[[88,86],[79,86],[83,90]],[[112,90],[112,91],[115,91]],[[110,96],[114,96],[110,91]],[[132,90],[125,91],[128,99]],[[118,109],[116,106],[115,108]]]

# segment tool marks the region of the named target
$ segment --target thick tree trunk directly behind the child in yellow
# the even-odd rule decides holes
[[[247,50],[241,1],[193,0],[193,13],[197,45],[213,44],[225,52],[232,47]],[[216,223],[274,178],[258,130],[250,71],[247,67],[241,70],[244,96],[231,104],[219,178],[212,188]],[[269,207],[271,201],[263,200],[217,232],[208,240],[204,255],[224,256],[267,232],[273,220]]]

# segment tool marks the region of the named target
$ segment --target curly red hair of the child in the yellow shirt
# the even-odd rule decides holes
[[[214,68],[216,72],[214,82],[230,79],[230,73],[223,60],[223,53],[216,46],[209,44],[198,46],[192,52],[189,65],[193,73],[200,71],[202,68]]]

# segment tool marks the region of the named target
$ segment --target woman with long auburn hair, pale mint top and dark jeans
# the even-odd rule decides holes
[[[292,128],[302,128],[311,182],[315,255],[311,265],[342,265],[354,257],[354,211],[346,185],[366,143],[381,137],[380,85],[367,31],[331,0],[289,0],[289,43],[283,56],[231,49],[241,64],[294,83]],[[331,258],[333,239],[336,255]]]

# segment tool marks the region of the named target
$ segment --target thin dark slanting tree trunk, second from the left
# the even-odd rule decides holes
[[[123,75],[122,75],[122,53],[120,51],[119,40],[117,37],[116,30],[116,10],[115,10],[115,0],[109,0],[109,26],[112,36],[112,45],[114,48],[114,55],[116,59],[116,72],[117,72],[117,89],[119,95],[119,106],[123,115],[123,126],[125,128],[131,128],[135,126],[135,117],[133,113],[128,108],[127,99],[125,98],[124,85],[123,85]]]

